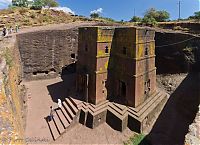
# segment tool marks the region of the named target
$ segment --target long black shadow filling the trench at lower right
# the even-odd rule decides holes
[[[156,120],[152,130],[140,143],[183,145],[189,125],[195,119],[200,103],[200,73],[189,73]]]

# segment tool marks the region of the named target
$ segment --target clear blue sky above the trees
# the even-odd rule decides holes
[[[5,8],[11,0],[0,0],[0,8]],[[78,15],[89,16],[100,9],[104,17],[115,20],[130,20],[135,14],[143,16],[149,8],[167,10],[171,19],[178,18],[178,0],[57,0],[62,7],[68,7]],[[199,11],[200,0],[181,0],[181,18],[187,18]]]

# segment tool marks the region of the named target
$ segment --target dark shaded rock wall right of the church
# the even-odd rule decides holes
[[[156,32],[157,74],[199,71],[200,38],[184,33]]]

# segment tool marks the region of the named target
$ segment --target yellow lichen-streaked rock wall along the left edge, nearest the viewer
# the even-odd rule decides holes
[[[0,142],[24,143],[25,90],[21,82],[21,64],[15,37],[0,42]]]

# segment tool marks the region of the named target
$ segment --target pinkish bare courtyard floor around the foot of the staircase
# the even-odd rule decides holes
[[[68,76],[69,78],[70,75]],[[66,79],[67,80],[67,79]],[[123,133],[113,130],[106,123],[100,125],[96,129],[90,129],[81,124],[71,128],[62,134],[61,137],[53,142],[53,138],[49,127],[47,125],[44,117],[49,115],[50,106],[56,104],[55,93],[57,92],[58,96],[63,96],[67,94],[66,86],[71,84],[72,80],[63,82],[61,78],[49,79],[49,80],[40,80],[25,82],[24,84],[28,88],[27,95],[27,121],[26,121],[26,138],[28,143],[65,143],[65,144],[77,144],[77,143],[86,143],[86,144],[123,144],[123,141],[128,140],[129,137],[133,135],[130,130],[125,130]],[[67,83],[67,84],[66,84]],[[51,92],[49,89],[54,86],[54,92]],[[49,92],[50,91],[50,92]],[[51,95],[52,96],[51,96]],[[53,101],[54,100],[54,101]],[[63,108],[63,112],[66,109]],[[64,112],[67,114],[66,112]],[[62,115],[60,113],[60,115]],[[61,117],[64,120],[64,117]],[[57,118],[56,122],[59,120]],[[50,125],[53,125],[54,122],[51,122]],[[56,123],[58,124],[58,123]],[[59,130],[62,128],[62,123],[58,125]],[[54,128],[55,132],[57,131]],[[63,132],[63,129],[62,131]],[[59,134],[57,134],[59,135]]]

